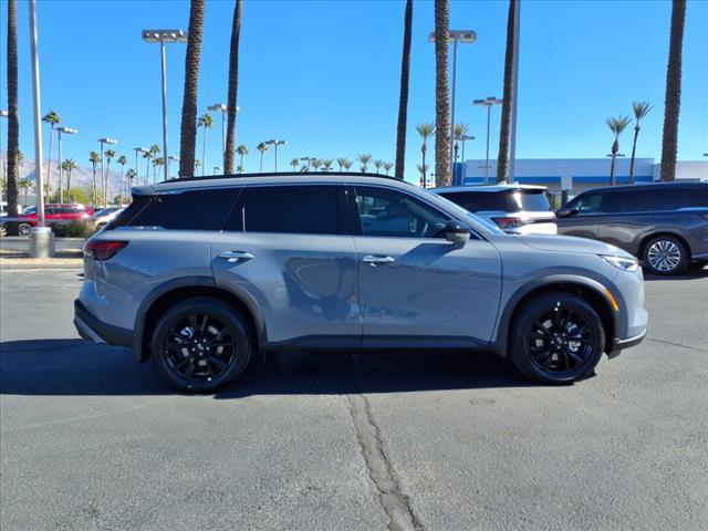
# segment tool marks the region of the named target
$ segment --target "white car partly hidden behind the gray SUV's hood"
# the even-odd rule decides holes
[[[507,232],[558,235],[548,188],[534,185],[454,186],[430,191]]]

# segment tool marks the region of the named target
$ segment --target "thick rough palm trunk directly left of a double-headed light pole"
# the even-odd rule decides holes
[[[435,0],[435,183],[450,184],[450,85],[448,80],[448,38],[450,2]]]

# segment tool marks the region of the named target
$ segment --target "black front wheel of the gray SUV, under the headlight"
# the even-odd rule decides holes
[[[534,299],[519,311],[512,326],[511,361],[537,382],[558,385],[586,378],[605,350],[597,312],[570,293]]]

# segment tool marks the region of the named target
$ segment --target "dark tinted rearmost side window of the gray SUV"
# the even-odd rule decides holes
[[[110,225],[170,230],[222,230],[240,188],[209,188],[136,196]]]

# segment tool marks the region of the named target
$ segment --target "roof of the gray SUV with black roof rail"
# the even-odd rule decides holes
[[[226,186],[274,185],[274,184],[317,184],[317,183],[366,183],[385,181],[398,186],[415,186],[396,177],[378,174],[361,174],[345,171],[287,171],[278,174],[241,174],[218,175],[207,177],[188,177],[167,180],[156,185],[135,186],[132,191],[136,195],[149,195],[185,188],[220,188]]]

